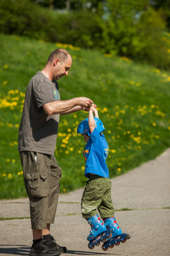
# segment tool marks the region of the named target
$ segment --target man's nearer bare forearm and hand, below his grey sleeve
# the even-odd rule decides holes
[[[88,108],[91,104],[93,104],[93,101],[87,97],[75,97],[70,100],[55,100],[46,103],[42,107],[46,114],[61,114],[72,110],[74,107]]]

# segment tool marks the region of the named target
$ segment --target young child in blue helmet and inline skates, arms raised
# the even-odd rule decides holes
[[[106,165],[108,143],[103,134],[104,130],[103,123],[98,119],[98,111],[91,105],[89,118],[81,121],[77,128],[77,133],[80,133],[86,142],[84,175],[89,178],[81,198],[81,213],[91,225],[91,232],[87,238],[89,249],[94,249],[94,245],[104,242],[102,249],[108,250],[108,247],[119,245],[120,241],[125,242],[130,235],[122,233],[113,217],[111,181]]]

